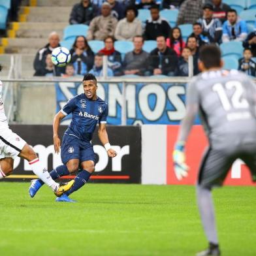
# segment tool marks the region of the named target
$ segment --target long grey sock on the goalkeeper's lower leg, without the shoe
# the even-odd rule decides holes
[[[197,185],[197,203],[206,237],[211,244],[219,244],[214,217],[214,203],[210,189]]]

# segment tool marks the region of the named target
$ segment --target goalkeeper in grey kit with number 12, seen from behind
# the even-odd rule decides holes
[[[214,44],[202,46],[201,74],[187,87],[186,114],[173,152],[178,180],[188,174],[184,147],[197,112],[209,146],[197,180],[197,202],[208,249],[197,256],[220,255],[211,190],[223,184],[232,163],[242,159],[256,182],[256,86],[246,74],[222,70],[221,52]]]

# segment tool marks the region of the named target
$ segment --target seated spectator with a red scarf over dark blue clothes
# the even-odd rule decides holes
[[[108,67],[112,69],[114,76],[121,76],[123,74],[121,54],[114,48],[114,37],[106,37],[104,45],[105,47],[99,53],[108,56]]]

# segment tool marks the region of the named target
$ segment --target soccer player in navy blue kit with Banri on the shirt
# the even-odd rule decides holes
[[[60,121],[72,113],[72,121],[64,133],[61,144],[61,160],[63,165],[50,172],[53,180],[72,172],[78,171],[71,189],[57,198],[57,202],[75,202],[69,195],[80,189],[95,170],[95,153],[91,138],[99,123],[98,136],[106,148],[109,157],[115,157],[116,152],[111,148],[106,132],[106,117],[108,105],[97,96],[97,80],[93,74],[86,74],[83,79],[84,93],[73,97],[56,114],[54,118],[54,150],[59,153],[60,139],[58,135]],[[32,180],[29,194],[34,197],[43,182]]]

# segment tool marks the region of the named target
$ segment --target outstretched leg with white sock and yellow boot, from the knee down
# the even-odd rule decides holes
[[[42,163],[39,161],[37,154],[28,144],[25,144],[24,148],[22,148],[19,157],[29,161],[29,165],[31,166],[33,172],[40,178],[40,180],[51,187],[58,197],[70,189],[74,183],[71,181],[69,184],[60,185],[54,182],[54,180],[52,180],[51,176],[49,175],[49,172],[42,166]]]

